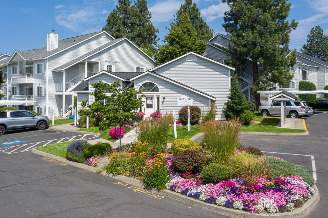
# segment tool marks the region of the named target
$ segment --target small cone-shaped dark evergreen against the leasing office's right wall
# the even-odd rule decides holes
[[[239,90],[238,80],[234,79],[231,83],[228,100],[224,103],[223,113],[226,118],[238,117],[246,107],[245,96]]]

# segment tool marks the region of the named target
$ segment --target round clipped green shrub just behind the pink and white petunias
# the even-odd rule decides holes
[[[203,168],[200,177],[205,184],[216,184],[223,180],[229,180],[233,177],[234,172],[225,165],[211,163]]]

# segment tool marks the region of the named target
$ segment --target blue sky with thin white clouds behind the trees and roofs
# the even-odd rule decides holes
[[[201,16],[215,33],[225,33],[222,27],[224,11],[228,9],[222,1],[196,0]],[[292,9],[289,20],[299,24],[291,33],[290,48],[298,51],[306,43],[310,29],[319,25],[328,35],[328,0],[290,0]],[[148,1],[152,22],[159,29],[161,40],[168,33],[173,14],[184,0]],[[15,50],[31,50],[47,45],[47,33],[51,29],[59,34],[59,40],[100,31],[107,16],[116,8],[112,0],[12,0],[2,1],[0,54],[13,54]]]

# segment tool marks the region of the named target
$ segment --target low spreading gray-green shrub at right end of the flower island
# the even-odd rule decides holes
[[[310,173],[303,167],[293,164],[285,160],[279,160],[276,158],[267,157],[270,163],[270,170],[274,178],[283,176],[299,175],[304,179],[306,183],[314,184],[314,179]]]

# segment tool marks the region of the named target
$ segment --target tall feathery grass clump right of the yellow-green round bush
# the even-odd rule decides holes
[[[205,152],[211,163],[225,164],[236,153],[241,128],[236,117],[202,122],[200,130],[204,133]]]

